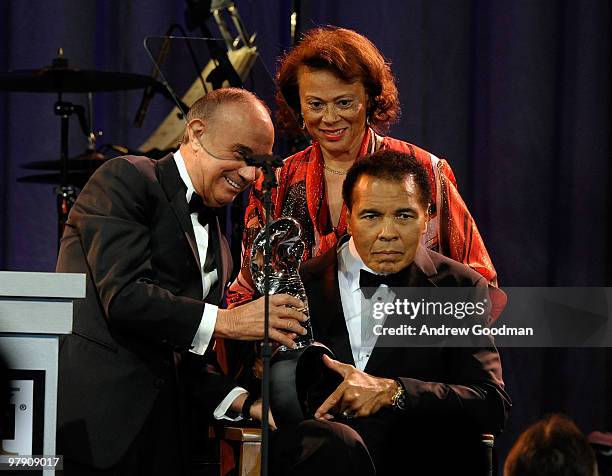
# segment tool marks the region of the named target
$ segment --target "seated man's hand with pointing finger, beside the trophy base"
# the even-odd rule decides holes
[[[323,362],[344,379],[315,412],[315,418],[331,420],[334,414],[344,418],[373,415],[393,404],[395,380],[369,375],[349,364],[323,356]]]

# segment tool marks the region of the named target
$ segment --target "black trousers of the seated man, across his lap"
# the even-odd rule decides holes
[[[270,469],[288,475],[486,474],[480,432],[465,420],[402,417],[306,420],[272,433]]]

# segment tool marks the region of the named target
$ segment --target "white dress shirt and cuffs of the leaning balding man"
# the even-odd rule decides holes
[[[187,199],[187,203],[189,203],[189,200],[191,200],[191,196],[196,192],[195,188],[193,187],[193,183],[191,182],[191,178],[189,177],[189,173],[187,173],[187,167],[185,167],[185,160],[183,159],[180,150],[177,150],[174,153],[174,161],[176,162],[176,166],[178,167],[179,175],[181,176],[183,183],[187,187],[185,198]],[[208,295],[214,284],[219,280],[219,274],[217,268],[215,268],[209,273],[206,273],[204,271],[204,263],[206,262],[206,252],[208,251],[209,225],[202,226],[202,224],[198,221],[198,214],[196,212],[191,214],[191,224],[193,225],[193,232],[195,234],[196,244],[198,247],[198,256],[200,258],[200,273],[202,274],[202,299],[204,299]],[[219,265],[218,263],[216,264],[217,266]],[[215,330],[218,310],[219,307],[215,306],[214,304],[204,304],[202,320],[200,321],[198,330],[196,331],[193,341],[191,342],[191,349],[189,349],[189,352],[198,355],[204,355],[206,349],[208,348],[208,344],[210,344],[210,340]],[[243,393],[248,392],[242,387],[235,387],[234,389],[232,389],[230,393],[228,393],[227,396],[221,401],[219,406],[217,406],[217,408],[213,412],[213,416],[217,420],[240,420],[242,418],[241,416],[232,418],[226,415],[226,413],[232,402]]]

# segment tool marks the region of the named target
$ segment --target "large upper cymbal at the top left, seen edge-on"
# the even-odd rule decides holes
[[[0,90],[87,93],[122,91],[158,85],[150,76],[73,68],[48,67],[0,73]]]

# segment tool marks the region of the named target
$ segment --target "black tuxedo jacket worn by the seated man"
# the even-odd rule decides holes
[[[303,263],[301,275],[315,340],[355,365],[338,288],[337,248]],[[469,267],[422,246],[408,281],[406,286],[420,287],[487,285]],[[461,421],[478,432],[498,433],[511,406],[492,341],[482,348],[374,347],[364,371],[402,381],[410,421]]]

